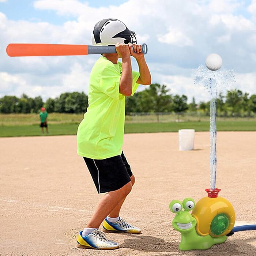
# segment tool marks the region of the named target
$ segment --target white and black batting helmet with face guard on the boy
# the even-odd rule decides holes
[[[91,34],[93,45],[116,45],[117,42],[124,44],[136,44],[135,32],[131,31],[118,19],[103,19],[95,26]]]

